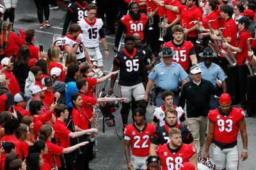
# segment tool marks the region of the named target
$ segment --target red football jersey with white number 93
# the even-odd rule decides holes
[[[214,140],[220,143],[233,143],[237,140],[238,122],[244,118],[241,108],[232,108],[228,115],[221,114],[221,110],[210,110],[208,118],[214,122]],[[225,137],[225,138],[223,138]]]

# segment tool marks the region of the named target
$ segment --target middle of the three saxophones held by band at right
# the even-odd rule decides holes
[[[221,40],[222,40],[223,43],[226,43],[227,41],[223,37],[222,30],[227,29],[228,27],[230,27],[230,25],[228,25],[227,27],[223,27],[223,28],[219,29],[220,37],[221,37]],[[236,61],[236,58],[235,58],[234,54],[232,53],[232,50],[228,47],[226,49],[227,49],[227,52],[225,50],[221,49],[221,54],[225,56],[225,58],[228,60],[229,64],[232,67],[236,66],[237,61]]]

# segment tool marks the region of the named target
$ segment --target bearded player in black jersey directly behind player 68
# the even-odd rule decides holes
[[[173,127],[180,129],[182,143],[192,144],[195,146],[194,138],[190,132],[188,125],[180,125],[177,122],[177,110],[175,108],[168,108],[164,111],[164,122],[165,124],[161,127],[157,127],[155,134],[152,136],[149,155],[157,155],[156,150],[158,145],[169,143],[169,132]],[[196,146],[195,146],[196,148]]]

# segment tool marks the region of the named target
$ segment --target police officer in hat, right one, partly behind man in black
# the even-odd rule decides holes
[[[220,66],[213,63],[212,61],[216,59],[216,53],[212,52],[212,48],[205,47],[202,53],[199,53],[204,62],[200,62],[198,67],[202,70],[202,78],[209,80],[216,87],[217,81],[219,81],[220,87],[222,87],[223,93],[227,92],[227,83],[225,79],[227,75],[224,73]],[[221,92],[222,93],[222,92]],[[214,95],[211,96],[210,110],[214,110],[218,107],[218,98]]]

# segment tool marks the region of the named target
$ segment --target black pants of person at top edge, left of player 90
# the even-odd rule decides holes
[[[97,0],[97,14],[98,17],[104,22],[106,13],[107,29],[115,31],[115,20],[117,11],[117,1],[116,0]]]

